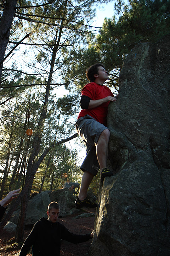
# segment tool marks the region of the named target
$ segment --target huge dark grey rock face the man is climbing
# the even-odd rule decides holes
[[[89,255],[170,256],[170,36],[137,44],[119,82]]]

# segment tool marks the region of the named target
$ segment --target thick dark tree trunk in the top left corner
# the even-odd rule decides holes
[[[0,22],[0,81],[5,50],[9,41],[11,25],[16,12],[17,0],[4,1],[4,10]]]

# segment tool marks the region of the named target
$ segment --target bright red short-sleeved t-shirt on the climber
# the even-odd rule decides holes
[[[89,98],[91,98],[91,100],[100,100],[101,98],[105,98],[107,96],[114,97],[114,95],[108,87],[106,87],[105,85],[98,85],[95,82],[90,82],[89,84],[86,84],[81,90],[81,95],[88,96]],[[105,102],[102,105],[95,108],[81,110],[78,115],[78,118],[88,114],[89,116],[95,118],[96,121],[106,126],[109,103],[110,101]]]

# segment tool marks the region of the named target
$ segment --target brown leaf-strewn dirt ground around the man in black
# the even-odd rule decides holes
[[[80,210],[81,213],[95,213],[95,209],[86,208],[84,210]],[[62,223],[66,228],[75,234],[90,234],[94,229],[94,221],[95,217],[84,217],[74,219],[74,215],[69,215],[63,218],[59,218],[57,221]],[[24,239],[29,235],[30,230],[24,231]],[[3,231],[0,234],[0,256],[17,256],[19,255],[22,243],[17,244],[14,239],[14,233],[6,233]],[[61,252],[60,256],[84,256],[87,254],[91,239],[87,242],[83,242],[81,244],[71,244],[67,241],[62,241],[61,243]],[[27,254],[28,256],[32,256],[31,252]]]

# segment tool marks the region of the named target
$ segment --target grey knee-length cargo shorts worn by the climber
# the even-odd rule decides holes
[[[100,168],[96,155],[96,144],[100,134],[108,128],[89,115],[80,117],[75,123],[75,128],[86,144],[86,157],[80,169],[96,176]]]

